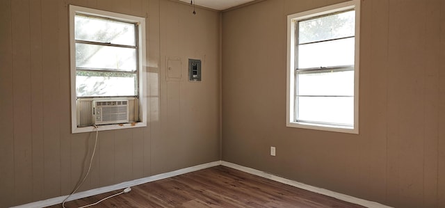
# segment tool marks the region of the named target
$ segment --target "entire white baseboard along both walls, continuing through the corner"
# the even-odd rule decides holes
[[[245,167],[245,166],[239,166],[239,165],[237,165],[235,163],[229,163],[229,162],[226,162],[226,161],[214,161],[214,162],[211,162],[211,163],[204,163],[202,165],[193,166],[193,167],[189,167],[189,168],[183,168],[183,169],[175,170],[175,171],[172,171],[172,172],[169,172],[169,173],[161,173],[159,175],[153,175],[153,176],[144,177],[144,178],[141,178],[141,179],[134,179],[134,180],[129,181],[129,182],[122,182],[120,184],[114,184],[114,185],[111,185],[111,186],[104,186],[104,187],[97,188],[97,189],[91,189],[91,190],[88,190],[88,191],[82,191],[82,192],[79,192],[79,193],[74,193],[72,196],[70,196],[70,198],[67,201],[76,200],[76,199],[79,199],[79,198],[86,198],[86,197],[89,197],[89,196],[92,196],[92,195],[97,195],[97,194],[106,193],[106,192],[110,192],[110,191],[116,191],[116,190],[119,190],[119,189],[125,189],[125,188],[130,187],[130,186],[137,186],[137,185],[145,184],[145,183],[148,183],[148,182],[154,182],[154,181],[159,180],[159,179],[165,179],[165,178],[168,178],[168,177],[174,177],[174,176],[177,176],[177,175],[182,175],[184,173],[191,173],[191,172],[194,172],[194,171],[197,171],[197,170],[202,170],[202,169],[205,169],[205,168],[211,168],[213,166],[219,166],[219,165],[226,166],[226,167],[229,167],[229,168],[234,168],[236,170],[241,170],[241,171],[243,171],[245,173],[250,173],[252,175],[257,175],[259,177],[264,177],[264,178],[267,178],[267,179],[271,179],[271,180],[273,180],[275,182],[288,184],[290,186],[295,186],[297,188],[305,189],[307,191],[312,191],[314,193],[320,193],[320,194],[323,194],[323,195],[327,195],[327,196],[330,196],[332,198],[337,198],[339,200],[343,200],[345,202],[351,202],[351,203],[356,204],[356,205],[362,205],[364,207],[370,207],[370,208],[391,208],[391,207],[388,207],[386,205],[381,205],[378,202],[371,202],[371,201],[368,201],[368,200],[362,200],[362,199],[355,198],[355,197],[350,196],[350,195],[344,195],[342,193],[329,191],[327,189],[321,189],[321,188],[317,188],[315,186],[309,186],[307,184],[302,184],[300,182],[296,182],[296,181],[293,181],[293,180],[290,180],[290,179],[285,179],[283,177],[278,177],[276,175],[272,175],[270,173],[263,172],[261,170],[255,170],[253,168],[248,168],[248,167]],[[47,200],[41,200],[41,201],[38,201],[38,202],[32,202],[32,203],[25,204],[25,205],[19,205],[19,206],[15,207],[15,208],[48,207],[48,206],[51,206],[51,205],[60,204],[61,202],[63,202],[63,200],[65,200],[66,197],[67,197],[67,195],[63,195],[63,196],[59,196],[59,197],[56,197],[56,198],[50,198],[50,199],[47,199]]]

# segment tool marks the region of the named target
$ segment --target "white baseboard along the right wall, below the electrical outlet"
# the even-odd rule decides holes
[[[370,208],[392,208],[392,207],[389,207],[387,205],[382,205],[382,204],[380,204],[378,202],[371,202],[369,200],[363,200],[363,199],[360,199],[360,198],[355,198],[353,196],[345,195],[343,193],[337,193],[337,192],[330,191],[330,190],[327,190],[327,189],[321,189],[321,188],[318,188],[318,187],[315,187],[315,186],[310,186],[310,185],[307,185],[307,184],[303,184],[303,183],[300,183],[300,182],[293,181],[291,179],[286,179],[284,177],[278,177],[276,175],[272,175],[270,173],[266,173],[266,172],[261,171],[261,170],[256,170],[256,169],[253,169],[253,168],[240,166],[240,165],[235,164],[235,163],[229,163],[227,161],[221,161],[221,165],[229,167],[229,168],[234,168],[236,170],[241,170],[241,171],[243,171],[245,173],[250,173],[252,175],[257,175],[259,177],[264,177],[264,178],[267,178],[267,179],[271,179],[271,180],[273,180],[275,182],[280,182],[282,184],[288,184],[290,186],[294,186],[294,187],[297,187],[297,188],[300,188],[300,189],[305,189],[307,191],[311,191],[311,192],[314,192],[314,193],[320,193],[322,195],[327,195],[327,196],[330,196],[332,198],[336,198],[338,200],[342,200],[342,201],[345,201],[345,202],[353,203],[355,205],[362,205],[364,207],[370,207]]]

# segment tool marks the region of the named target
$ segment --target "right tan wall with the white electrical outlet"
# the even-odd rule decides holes
[[[359,135],[286,127],[286,15],[341,1],[223,13],[223,160],[395,207],[445,207],[445,1],[363,0]]]

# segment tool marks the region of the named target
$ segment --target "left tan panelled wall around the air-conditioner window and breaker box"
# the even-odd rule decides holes
[[[68,4],[147,17],[149,122],[100,131],[81,190],[220,159],[220,13],[167,0],[0,1],[0,207],[69,193],[95,134],[70,134]],[[165,56],[182,59],[165,80]],[[202,59],[200,83],[186,81]]]

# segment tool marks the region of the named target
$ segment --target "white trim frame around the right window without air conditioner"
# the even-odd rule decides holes
[[[319,15],[335,13],[342,10],[355,8],[355,64],[354,64],[354,127],[341,127],[331,125],[319,125],[305,122],[295,122],[293,100],[295,86],[295,24],[294,21],[307,19]],[[296,127],[302,129],[316,129],[322,131],[335,131],[350,134],[359,134],[359,43],[360,43],[360,1],[353,0],[344,3],[337,3],[323,8],[316,8],[302,13],[287,16],[287,79],[286,79],[286,127]]]

